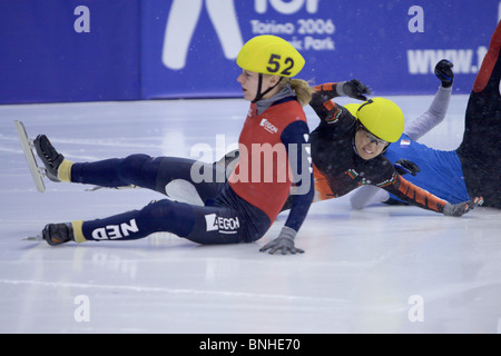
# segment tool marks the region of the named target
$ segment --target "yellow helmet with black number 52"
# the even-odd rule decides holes
[[[248,71],[295,77],[304,67],[303,56],[286,40],[263,34],[248,40],[237,57],[237,65]]]

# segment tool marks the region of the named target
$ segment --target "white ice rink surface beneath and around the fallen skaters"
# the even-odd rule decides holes
[[[390,97],[412,119],[432,100]],[[454,149],[468,96],[422,142]],[[340,100],[341,103],[347,102]],[[302,255],[198,246],[168,234],[129,241],[27,241],[48,222],[94,219],[164,198],[53,184],[36,190],[14,130],[46,134],[73,161],[129,154],[217,159],[238,138],[239,99],[0,107],[0,333],[501,333],[501,211],[444,217],[415,207],[312,206]],[[313,129],[317,118],[306,109]],[[222,144],[223,141],[223,144]],[[217,147],[218,146],[218,147]]]

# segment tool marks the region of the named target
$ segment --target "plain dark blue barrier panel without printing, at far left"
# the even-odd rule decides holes
[[[140,97],[137,0],[1,0],[0,102]]]

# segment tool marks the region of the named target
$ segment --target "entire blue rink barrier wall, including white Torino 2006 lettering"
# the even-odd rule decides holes
[[[1,0],[0,103],[240,97],[236,53],[264,33],[296,46],[315,83],[432,93],[445,57],[468,93],[500,12],[499,0]]]

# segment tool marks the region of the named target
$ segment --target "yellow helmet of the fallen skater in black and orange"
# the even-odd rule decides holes
[[[357,108],[355,106],[357,106]],[[348,103],[345,108],[348,109],[350,112],[356,110],[354,116],[363,127],[382,140],[396,142],[402,136],[404,129],[404,116],[399,106],[392,100],[373,98],[362,105]]]

